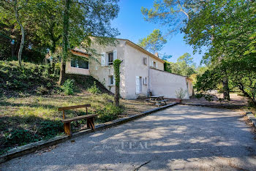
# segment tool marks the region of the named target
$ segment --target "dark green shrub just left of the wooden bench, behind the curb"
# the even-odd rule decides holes
[[[61,132],[64,132],[61,121],[42,121],[38,130],[39,135],[47,139]]]

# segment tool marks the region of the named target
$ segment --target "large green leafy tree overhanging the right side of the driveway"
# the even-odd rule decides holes
[[[226,85],[236,86],[255,103],[255,1],[208,1],[191,16],[192,23],[184,28],[189,44],[195,49],[207,45],[203,59],[211,72],[226,75]]]

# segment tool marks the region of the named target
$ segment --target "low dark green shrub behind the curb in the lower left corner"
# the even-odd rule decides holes
[[[33,135],[26,129],[17,129],[4,135],[7,145],[23,145],[28,142],[34,142]]]

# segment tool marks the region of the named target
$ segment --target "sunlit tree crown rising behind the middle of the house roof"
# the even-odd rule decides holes
[[[167,40],[162,37],[161,31],[159,31],[159,29],[154,29],[148,37],[140,39],[138,45],[151,53],[157,53],[162,50],[163,45],[166,43]]]

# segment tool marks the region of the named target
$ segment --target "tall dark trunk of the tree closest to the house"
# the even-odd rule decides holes
[[[64,17],[63,17],[63,56],[61,58],[61,71],[59,75],[59,85],[64,83],[65,69],[66,69],[66,59],[68,52],[68,34],[69,34],[69,7],[70,0],[65,0],[64,4]]]

